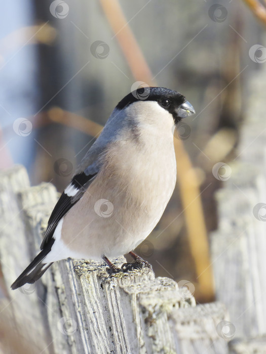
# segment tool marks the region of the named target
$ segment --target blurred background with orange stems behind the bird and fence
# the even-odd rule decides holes
[[[176,189],[136,252],[156,276],[191,282],[200,302],[214,298],[214,194],[266,61],[263,24],[244,3],[14,0],[0,14],[0,166],[25,165],[32,185],[62,192],[131,90],[169,87],[193,104],[174,136]]]

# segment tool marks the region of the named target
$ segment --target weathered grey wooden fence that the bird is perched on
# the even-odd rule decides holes
[[[221,303],[196,306],[186,287],[143,268],[108,275],[88,260],[55,262],[36,284],[10,284],[34,257],[58,198],[51,184],[29,187],[24,167],[0,173],[0,259],[12,338],[41,353],[225,353],[216,326]],[[115,260],[125,262],[124,257]],[[10,344],[10,343],[9,343]],[[11,345],[11,344],[10,344]]]

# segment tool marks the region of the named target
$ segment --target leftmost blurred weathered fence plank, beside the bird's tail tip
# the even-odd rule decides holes
[[[24,223],[23,206],[17,197],[20,190],[29,188],[25,168],[15,166],[0,174],[0,259],[10,300],[12,322],[23,329],[32,345],[32,353],[41,351],[49,337],[43,319],[42,307],[35,288],[24,286],[14,292],[10,285],[27,265],[31,256],[28,249],[28,234]],[[5,311],[10,311],[9,306]],[[4,315],[4,314],[3,314]],[[48,352],[47,350],[43,351]]]

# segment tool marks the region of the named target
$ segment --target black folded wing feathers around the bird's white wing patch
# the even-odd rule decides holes
[[[72,208],[73,205],[75,205],[75,203],[77,203],[81,199],[96,174],[97,172],[94,174],[87,175],[86,173],[82,172],[76,174],[72,178],[70,184],[73,185],[75,188],[80,189],[78,192],[78,198],[77,196],[69,197],[66,193],[62,193],[48,220],[48,226],[45,233],[45,238],[43,239],[43,242],[41,244],[41,250],[44,249],[49,243],[49,241],[52,239],[57,224],[59,223],[61,218]]]

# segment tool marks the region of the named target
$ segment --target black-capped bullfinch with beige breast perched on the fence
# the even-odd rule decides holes
[[[158,224],[176,183],[173,131],[195,113],[179,92],[140,87],[112,111],[58,199],[41,252],[11,285],[40,279],[68,257],[104,260],[108,273],[149,265],[133,250]],[[130,254],[121,268],[110,260]]]

